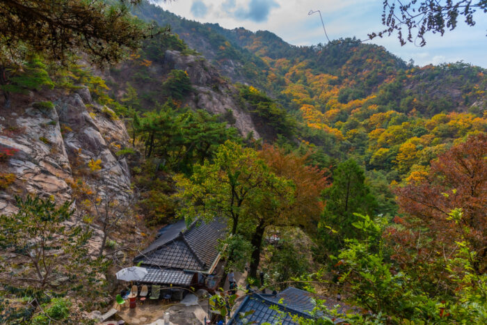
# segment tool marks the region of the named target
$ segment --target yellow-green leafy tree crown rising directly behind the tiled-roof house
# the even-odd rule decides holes
[[[257,151],[226,141],[218,147],[214,161],[196,164],[193,175],[176,177],[177,194],[184,207],[181,216],[214,219],[225,216],[230,221],[231,235],[236,235],[239,222],[269,198],[273,189],[282,189],[289,181],[277,177]]]

